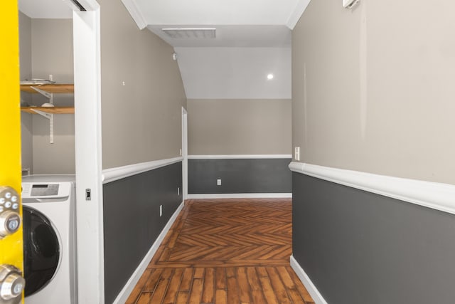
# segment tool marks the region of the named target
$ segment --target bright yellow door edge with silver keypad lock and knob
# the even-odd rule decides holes
[[[0,9],[0,304],[23,302],[17,1]]]

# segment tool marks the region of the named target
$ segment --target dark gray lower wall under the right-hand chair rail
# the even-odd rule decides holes
[[[455,216],[293,173],[293,255],[331,304],[455,303]]]

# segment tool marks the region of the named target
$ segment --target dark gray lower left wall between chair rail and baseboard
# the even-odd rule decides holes
[[[181,193],[181,162],[103,186],[105,303],[117,298],[181,204],[178,187]]]

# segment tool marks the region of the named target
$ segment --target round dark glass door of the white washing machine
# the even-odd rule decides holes
[[[60,262],[58,236],[49,219],[23,205],[23,263],[25,296],[33,295],[52,280]]]

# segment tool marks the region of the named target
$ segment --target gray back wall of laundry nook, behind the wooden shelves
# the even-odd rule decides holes
[[[73,20],[32,19],[32,76],[53,79],[58,83],[73,80]],[[73,94],[54,94],[54,104],[74,105]],[[48,100],[33,94],[33,104]],[[54,143],[49,143],[49,121],[33,115],[33,174],[74,174],[74,115],[54,115]]]

